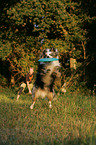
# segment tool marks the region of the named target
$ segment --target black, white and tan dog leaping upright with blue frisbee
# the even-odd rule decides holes
[[[57,77],[60,77],[61,73],[59,71],[60,63],[58,50],[55,48],[48,48],[43,51],[41,54],[41,59],[46,58],[56,58],[56,61],[41,61],[38,65],[36,80],[32,90],[32,100],[33,103],[30,106],[30,109],[34,108],[36,99],[48,98],[49,99],[49,108],[52,108],[51,101],[54,97],[54,83]]]

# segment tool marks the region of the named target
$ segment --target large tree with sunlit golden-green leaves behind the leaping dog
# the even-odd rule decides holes
[[[10,62],[13,76],[22,76],[30,63],[34,66],[38,62],[42,49],[48,47],[58,48],[60,59],[75,48],[74,58],[81,61],[82,42],[85,47],[87,43],[84,24],[88,19],[80,5],[70,0],[18,1],[6,8],[6,19],[2,20],[5,31],[1,30],[0,57]]]

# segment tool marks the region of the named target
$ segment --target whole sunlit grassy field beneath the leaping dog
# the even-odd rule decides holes
[[[96,98],[60,95],[48,107],[31,95],[16,101],[15,90],[0,88],[0,145],[96,145]]]

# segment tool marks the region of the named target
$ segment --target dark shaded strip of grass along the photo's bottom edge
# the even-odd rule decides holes
[[[0,129],[0,145],[96,145],[96,136],[84,138],[58,138],[53,135],[35,134],[30,130]]]

